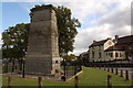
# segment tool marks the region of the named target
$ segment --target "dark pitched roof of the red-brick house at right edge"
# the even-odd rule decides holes
[[[116,45],[119,45],[119,44],[131,44],[131,43],[133,43],[133,35],[119,37]]]

